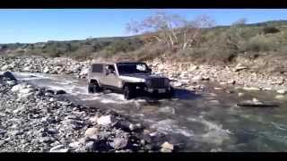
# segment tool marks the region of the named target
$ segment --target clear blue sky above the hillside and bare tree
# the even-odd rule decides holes
[[[0,44],[127,36],[126,23],[158,11],[187,20],[206,14],[216,25],[287,20],[287,9],[0,9]]]

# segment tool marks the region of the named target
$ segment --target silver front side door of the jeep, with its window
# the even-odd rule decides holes
[[[113,68],[114,73],[109,73],[108,68]],[[120,87],[120,80],[117,77],[117,71],[114,64],[105,64],[102,84],[111,89]]]

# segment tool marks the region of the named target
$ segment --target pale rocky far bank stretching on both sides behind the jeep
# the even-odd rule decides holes
[[[77,62],[63,57],[3,56],[0,57],[0,71],[74,74],[78,78],[86,78],[91,63],[92,60]],[[243,64],[212,66],[170,63],[158,59],[147,64],[152,67],[153,72],[168,76],[177,88],[203,89],[204,87],[198,85],[200,82],[215,81],[223,86],[236,86],[247,90],[278,90],[279,94],[285,94],[287,91],[286,75],[254,72]]]

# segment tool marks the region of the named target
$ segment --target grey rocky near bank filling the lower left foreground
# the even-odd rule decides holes
[[[111,110],[77,106],[65,91],[0,75],[1,152],[171,152],[166,136]]]

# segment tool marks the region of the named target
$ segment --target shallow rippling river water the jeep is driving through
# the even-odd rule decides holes
[[[138,97],[102,92],[88,94],[87,81],[72,76],[14,72],[17,79],[39,87],[64,89],[70,99],[86,106],[110,108],[152,129],[167,133],[181,151],[287,151],[287,101],[276,100],[272,91],[244,91],[205,83],[202,92],[177,89],[174,98]],[[238,93],[245,95],[239,97]],[[278,107],[240,107],[256,97]]]

